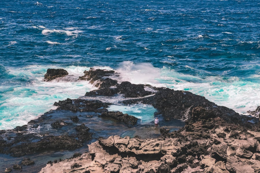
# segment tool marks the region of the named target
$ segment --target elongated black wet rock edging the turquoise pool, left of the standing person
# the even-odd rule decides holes
[[[137,120],[138,120],[134,116],[131,116],[131,115],[128,115],[128,114],[123,114],[122,112],[114,112],[114,111],[103,112],[101,114],[101,117],[108,117],[108,118],[112,118],[112,119],[121,121],[121,122],[129,125],[129,127],[134,126],[137,123]]]

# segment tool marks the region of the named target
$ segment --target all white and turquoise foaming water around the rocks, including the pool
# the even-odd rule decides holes
[[[129,81],[133,84],[151,84],[156,87],[168,87],[174,90],[190,91],[206,97],[219,106],[226,106],[242,114],[255,110],[260,105],[260,86],[257,82],[248,82],[238,77],[223,76],[198,77],[177,73],[166,67],[159,69],[149,63],[134,64],[125,61],[115,69],[120,73],[118,82]],[[64,79],[44,82],[44,74],[48,68],[64,68],[69,76]],[[108,69],[110,67],[94,67]],[[187,67],[188,68],[188,67]],[[2,84],[0,97],[0,129],[13,129],[38,118],[44,112],[55,109],[55,101],[66,98],[78,98],[86,92],[96,89],[88,81],[77,80],[89,67],[43,67],[31,65],[23,68],[8,69],[13,76],[9,83]],[[252,77],[252,76],[251,76]],[[25,79],[26,82],[19,81]],[[116,98],[110,100],[116,103]],[[118,97],[118,99],[122,99]],[[109,101],[109,98],[108,100]],[[154,108],[144,105],[132,107],[110,106],[110,110],[118,110],[140,118],[142,123],[153,119]],[[148,112],[146,112],[146,110]],[[149,113],[150,111],[150,113]]]

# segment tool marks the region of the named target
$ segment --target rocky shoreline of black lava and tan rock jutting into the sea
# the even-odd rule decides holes
[[[51,161],[40,172],[260,172],[259,108],[248,112],[256,117],[239,115],[187,91],[130,82],[118,84],[114,71],[91,68],[84,74],[79,80],[89,80],[97,90],[78,99],[55,102],[57,110],[51,110],[27,125],[1,130],[0,153],[21,157],[85,146],[93,134],[84,121],[92,115],[83,117],[77,112],[93,112],[131,128],[136,125],[137,118],[108,111],[111,103],[95,99],[122,95],[125,98],[122,104],[152,105],[166,121],[182,119],[185,126],[173,132],[161,128],[160,138],[100,138],[88,145],[88,152]],[[66,78],[66,75],[63,69],[49,70],[44,80]],[[56,117],[55,111],[72,113],[64,118]],[[32,132],[35,129],[38,133]],[[6,172],[10,171],[8,169]]]

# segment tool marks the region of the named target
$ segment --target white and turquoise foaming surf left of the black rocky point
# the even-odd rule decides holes
[[[49,67],[58,68],[58,67]],[[77,80],[88,67],[64,67],[72,80],[53,80],[43,82],[46,67],[31,65],[23,68],[8,69],[11,82],[1,85],[0,129],[13,129],[25,125],[50,109],[55,101],[78,98],[87,91],[96,89],[88,81]]]

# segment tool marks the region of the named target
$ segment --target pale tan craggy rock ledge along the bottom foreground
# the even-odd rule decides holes
[[[44,172],[259,172],[259,137],[239,132],[237,138],[224,128],[209,138],[136,139],[110,136],[89,145],[80,157],[47,164]],[[188,135],[184,129],[177,133]],[[186,134],[187,133],[187,134]],[[224,133],[227,137],[219,137]],[[259,135],[259,133],[258,133]],[[248,137],[247,139],[245,139]],[[240,138],[240,139],[238,139]],[[258,152],[258,153],[257,153]],[[77,164],[77,168],[75,168]]]

